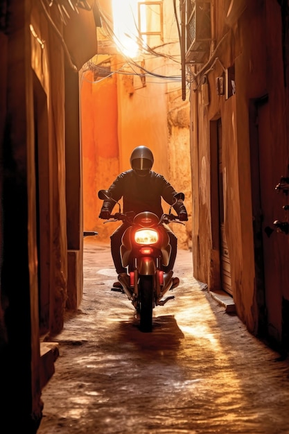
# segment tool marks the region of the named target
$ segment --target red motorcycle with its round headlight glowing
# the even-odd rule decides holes
[[[98,191],[100,200],[112,200],[107,190]],[[184,193],[176,193],[175,202],[184,200]],[[155,306],[164,306],[168,300],[175,297],[169,296],[164,299],[168,290],[173,289],[173,270],[164,272],[164,266],[168,266],[170,259],[170,238],[165,225],[175,222],[184,225],[179,221],[178,216],[172,214],[172,207],[168,214],[159,218],[150,211],[143,211],[137,215],[133,211],[126,213],[119,212],[110,215],[110,219],[104,223],[123,221],[128,223],[121,243],[121,261],[126,268],[128,279],[120,279],[122,293],[127,295],[128,300],[139,313],[139,328],[143,332],[152,331],[152,311]],[[126,277],[126,276],[125,276]],[[116,288],[112,288],[117,290]]]

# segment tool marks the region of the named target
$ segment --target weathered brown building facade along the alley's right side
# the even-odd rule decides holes
[[[288,350],[288,4],[186,1],[193,263]]]

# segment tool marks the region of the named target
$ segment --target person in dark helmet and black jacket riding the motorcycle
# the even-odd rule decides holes
[[[163,175],[155,173],[151,170],[154,157],[152,151],[146,146],[137,146],[132,151],[130,156],[131,169],[121,173],[110,186],[110,198],[103,201],[103,207],[100,210],[99,218],[108,220],[116,202],[123,198],[123,212],[134,211],[138,214],[142,211],[151,211],[159,218],[163,214],[161,207],[161,198],[169,205],[174,202],[173,195],[176,193],[173,186],[165,180]],[[116,202],[115,202],[116,201]],[[182,200],[178,200],[173,208],[177,212],[179,220],[188,220],[186,207]],[[164,272],[173,270],[175,258],[177,256],[177,237],[167,225],[164,225],[168,236],[170,237],[170,245],[172,251],[168,266],[164,267]],[[128,223],[122,223],[112,234],[111,251],[118,279],[128,279],[126,269],[121,263],[120,247],[121,238],[125,229],[128,228]],[[173,278],[173,286],[175,288],[179,284],[177,277]],[[120,286],[119,282],[115,282],[114,286]]]

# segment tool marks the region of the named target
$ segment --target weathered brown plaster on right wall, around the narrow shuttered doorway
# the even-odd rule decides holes
[[[217,10],[218,8],[216,8]],[[219,21],[219,19],[220,21]],[[223,16],[218,19],[220,35]],[[254,27],[256,29],[256,26]],[[224,28],[223,33],[226,29]],[[245,320],[249,329],[254,328],[252,319],[252,304],[254,297],[254,252],[252,245],[252,209],[250,195],[250,165],[248,149],[248,110],[245,88],[247,80],[239,69],[240,64],[249,64],[249,51],[245,45],[244,33],[247,29],[242,26],[229,29],[227,37],[218,51],[218,58],[212,71],[208,73],[209,106],[202,104],[202,87],[198,92],[198,171],[200,187],[199,203],[199,245],[195,249],[194,257],[198,262],[195,266],[195,277],[208,282],[209,287],[218,289],[220,284],[220,252],[213,249],[212,228],[214,218],[219,219],[218,209],[211,209],[213,185],[211,177],[218,172],[218,166],[211,166],[210,122],[214,119],[222,120],[222,166],[224,188],[224,225],[231,262],[231,279],[234,300],[241,318]],[[260,31],[260,28],[259,28]],[[243,33],[244,32],[244,33]],[[258,33],[258,31],[256,31]],[[240,46],[242,49],[240,50]],[[225,101],[225,96],[216,93],[216,78],[222,76],[223,67],[234,64],[236,59],[237,91]],[[237,98],[239,98],[237,100]],[[194,108],[193,108],[194,110]],[[240,128],[238,128],[240,125]],[[242,145],[241,145],[242,144]],[[193,168],[195,170],[195,168]],[[218,178],[215,177],[215,180]],[[215,191],[216,193],[216,191]],[[217,192],[218,193],[218,192]],[[218,220],[219,222],[219,220]],[[219,224],[219,223],[218,223]],[[198,258],[198,259],[197,259]]]

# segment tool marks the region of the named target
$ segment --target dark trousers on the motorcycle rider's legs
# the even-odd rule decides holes
[[[128,228],[126,223],[123,223],[121,226],[117,227],[112,236],[110,237],[110,247],[112,250],[112,260],[114,261],[114,266],[116,268],[116,273],[119,275],[121,272],[126,272],[126,268],[123,268],[123,264],[121,263],[121,238],[125,229]],[[172,246],[172,251],[170,253],[170,261],[168,266],[163,267],[165,272],[173,270],[173,266],[175,265],[175,258],[177,257],[177,237],[170,230],[168,226],[165,226],[166,232],[170,237],[170,245]]]

